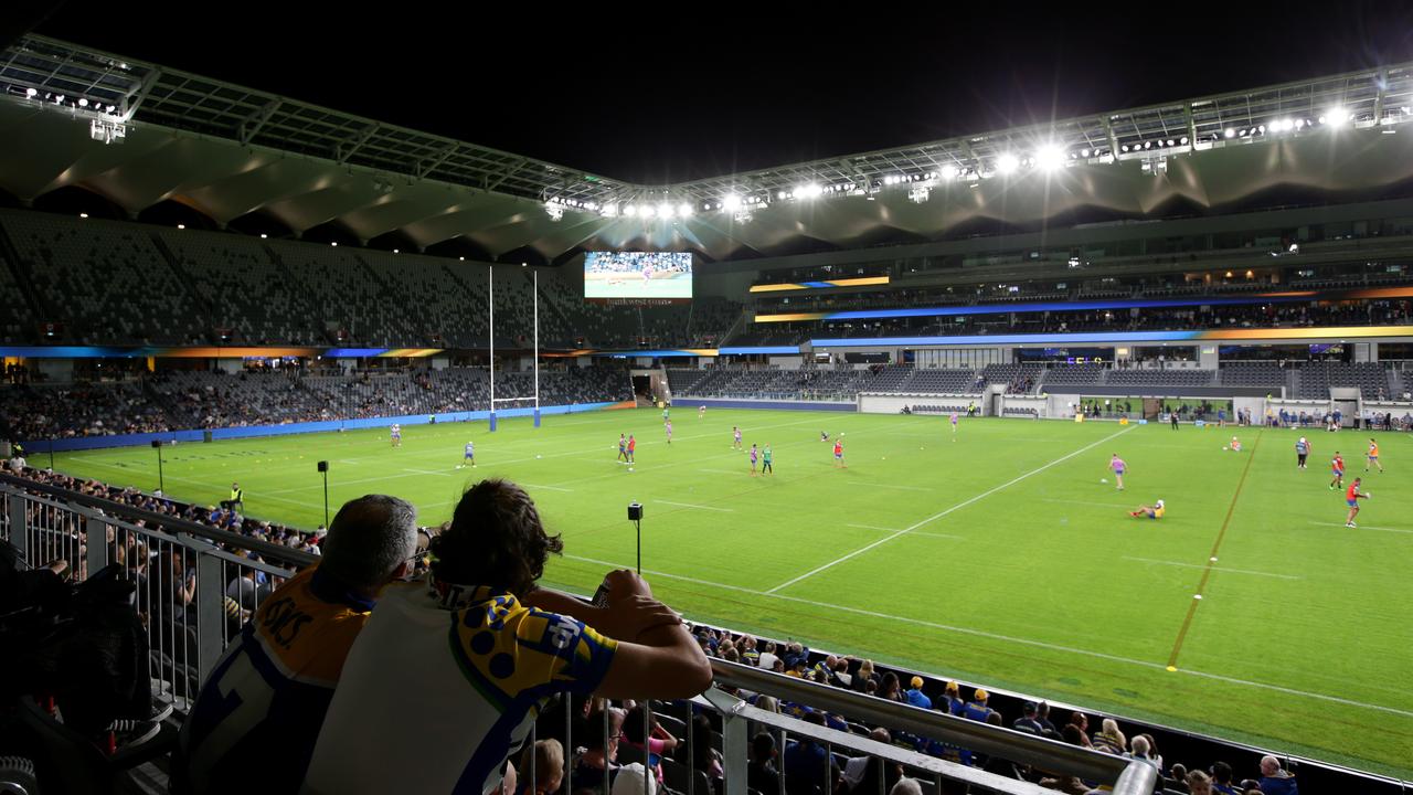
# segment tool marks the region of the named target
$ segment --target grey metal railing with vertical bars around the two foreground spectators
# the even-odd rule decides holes
[[[0,538],[18,547],[21,560],[30,566],[47,566],[64,559],[75,576],[86,576],[107,564],[124,569],[137,586],[134,607],[147,629],[148,675],[154,693],[178,709],[185,709],[195,697],[226,645],[267,594],[294,569],[318,560],[317,556],[254,538],[7,474],[0,474]],[[157,529],[158,525],[161,529]],[[249,555],[267,560],[254,560]],[[904,775],[918,781],[924,795],[940,795],[948,787],[945,782],[968,784],[974,792],[1048,792],[1019,777],[875,741],[859,733],[868,727],[889,729],[894,740],[940,743],[947,748],[1027,765],[1051,777],[1078,778],[1095,787],[1109,787],[1119,795],[1147,795],[1154,791],[1159,777],[1159,771],[1143,760],[1111,755],[749,665],[714,659],[712,669],[715,682],[706,693],[691,702],[640,703],[623,719],[647,720],[650,713],[657,714],[658,721],[670,723],[680,736],[684,734],[688,748],[694,743],[705,743],[719,754],[721,770],[711,771],[712,775],[698,770],[694,753],[687,753],[684,762],[670,758],[660,762],[664,785],[681,795],[747,795],[747,745],[750,737],[762,731],[776,737],[781,753],[790,747],[790,738],[824,748],[822,764],[827,768],[822,792],[815,795],[834,795],[834,765],[846,761],[844,754],[900,765]],[[739,697],[747,692],[825,710],[845,719],[851,730],[818,726],[752,706]],[[561,707],[562,712],[550,709],[540,716],[530,741],[533,747],[534,740],[548,731],[547,727],[555,729],[554,734],[561,736],[565,745],[564,791],[574,792],[572,781],[578,775],[574,751],[584,745],[582,738],[574,737],[572,700],[565,697]],[[698,727],[692,721],[694,714],[706,714],[711,729]],[[605,721],[602,737],[609,738],[610,757],[616,753],[619,762],[647,761],[646,748],[617,744],[617,736],[609,731],[608,712],[601,709],[595,719]],[[699,737],[699,731],[709,736]],[[647,737],[647,733],[643,736]],[[781,795],[786,794],[784,768],[786,764],[777,768]],[[534,765],[521,770],[520,777],[528,778],[534,789]],[[606,778],[603,795],[609,795]],[[889,795],[883,791],[882,778],[880,774],[879,795]]]

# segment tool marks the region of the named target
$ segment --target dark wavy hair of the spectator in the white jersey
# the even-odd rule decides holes
[[[524,596],[544,574],[550,555],[562,550],[564,542],[544,532],[540,512],[523,488],[485,480],[466,489],[451,528],[432,539],[432,576]]]

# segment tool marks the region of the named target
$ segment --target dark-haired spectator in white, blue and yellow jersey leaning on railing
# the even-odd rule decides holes
[[[431,571],[389,587],[349,654],[305,789],[390,792],[415,768],[425,791],[489,792],[548,696],[680,699],[706,689],[706,656],[637,574],[609,573],[608,607],[537,587],[562,549],[524,489],[503,480],[471,487],[432,539]],[[404,723],[418,730],[382,733],[377,753],[345,753],[366,745],[367,727]]]

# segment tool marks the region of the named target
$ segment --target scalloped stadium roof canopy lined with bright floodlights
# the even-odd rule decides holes
[[[643,248],[728,259],[1413,177],[1413,64],[671,185],[38,35],[0,55],[0,187],[21,199],[78,185],[130,214],[177,199],[218,224],[264,211],[297,232],[336,222],[418,246],[463,236],[496,257]]]

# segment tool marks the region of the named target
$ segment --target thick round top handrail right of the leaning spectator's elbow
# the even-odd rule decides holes
[[[986,723],[924,710],[910,704],[899,704],[876,696],[841,690],[794,676],[784,676],[749,665],[711,661],[718,686],[740,687],[757,693],[770,693],[791,702],[838,712],[848,717],[897,729],[942,743],[961,745],[982,754],[993,754],[1016,762],[1034,765],[1040,770],[1077,775],[1092,781],[1119,781],[1129,761],[1091,748],[1068,745],[1036,734],[996,727]],[[1152,768],[1150,768],[1152,770]],[[1147,777],[1147,789],[1129,792],[1152,792],[1157,771]],[[1130,779],[1142,779],[1133,774]],[[1119,789],[1115,789],[1119,792]]]

